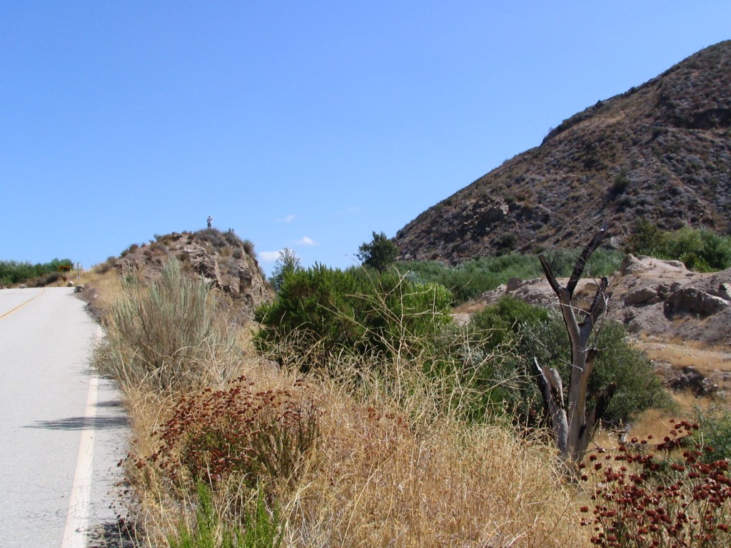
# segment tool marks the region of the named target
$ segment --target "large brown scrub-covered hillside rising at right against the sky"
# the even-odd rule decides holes
[[[731,224],[731,41],[559,123],[542,144],[401,229],[401,259],[459,262],[580,246],[637,218],[725,234]]]

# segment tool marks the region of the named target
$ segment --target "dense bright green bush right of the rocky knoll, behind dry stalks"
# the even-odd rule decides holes
[[[262,329],[255,343],[281,363],[297,355],[303,370],[341,353],[433,352],[437,335],[452,322],[451,302],[439,284],[417,283],[395,270],[315,265],[287,275],[277,299],[257,310]]]

